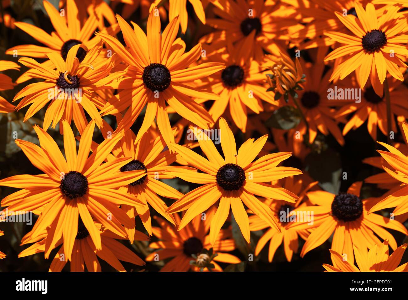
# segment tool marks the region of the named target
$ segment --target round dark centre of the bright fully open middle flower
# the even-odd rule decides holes
[[[217,171],[217,184],[226,191],[236,191],[245,181],[245,171],[237,164],[224,164]]]

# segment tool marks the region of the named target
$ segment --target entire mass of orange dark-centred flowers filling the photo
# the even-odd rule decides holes
[[[2,2],[13,268],[408,271],[403,4]]]

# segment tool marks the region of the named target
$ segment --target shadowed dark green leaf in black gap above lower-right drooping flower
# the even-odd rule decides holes
[[[329,193],[337,194],[341,184],[341,158],[339,153],[328,148],[322,153],[312,152],[305,158],[305,170],[320,187]]]

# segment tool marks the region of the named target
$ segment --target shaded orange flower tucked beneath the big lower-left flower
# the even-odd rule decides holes
[[[128,249],[124,244],[118,242],[117,240],[126,240],[127,237],[123,234],[115,234],[108,229],[102,229],[101,224],[95,224],[95,230],[100,232],[100,243],[101,248],[98,249],[93,242],[91,235],[86,229],[84,222],[81,218],[78,219],[78,233],[75,236],[73,242],[73,251],[71,258],[68,259],[65,255],[64,241],[62,238],[58,240],[53,246],[53,248],[58,248],[58,252],[55,254],[51,266],[49,267],[50,272],[62,271],[64,266],[68,261],[71,262],[71,272],[84,272],[85,267],[89,272],[100,272],[101,266],[99,264],[98,258],[106,261],[113,268],[120,272],[126,272],[125,268],[122,266],[119,260],[124,262],[130,262],[138,266],[143,266],[145,262],[139,258],[135,253]],[[29,244],[35,242],[27,249],[23,250],[18,257],[25,257],[33,255],[35,253],[45,252],[45,245],[47,240],[52,239],[53,236],[48,235],[46,230],[43,234],[37,238],[30,238],[30,233],[22,239],[22,244]],[[135,240],[149,240],[149,238],[140,231],[135,231]]]

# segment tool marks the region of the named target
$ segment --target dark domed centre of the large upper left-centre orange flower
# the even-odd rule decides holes
[[[162,92],[169,87],[171,75],[166,66],[154,63],[144,67],[142,79],[151,91]]]

